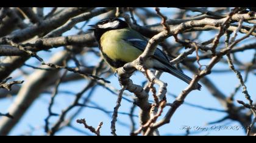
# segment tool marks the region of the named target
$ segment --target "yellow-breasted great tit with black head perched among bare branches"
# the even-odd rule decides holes
[[[148,40],[140,33],[129,28],[127,22],[118,18],[103,19],[95,25],[89,25],[99,43],[99,49],[105,61],[113,70],[132,62],[143,53]],[[190,84],[191,78],[169,63],[168,57],[159,48],[151,59],[146,62],[149,68],[165,71]],[[196,88],[201,90],[201,85]]]

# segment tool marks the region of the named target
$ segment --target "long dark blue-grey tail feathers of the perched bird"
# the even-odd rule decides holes
[[[187,82],[187,84],[190,84],[190,82],[192,81],[192,79],[190,77],[188,77],[187,75],[185,75],[184,73],[182,73],[181,71],[179,71],[176,67],[171,66],[165,66],[166,68],[163,69],[163,71],[166,71],[168,73],[170,73],[171,75],[176,76],[177,78],[181,79],[184,82]],[[197,90],[201,90],[202,85],[198,84],[196,85]]]

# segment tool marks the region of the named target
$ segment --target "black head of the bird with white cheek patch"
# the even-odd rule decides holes
[[[121,19],[118,19],[118,18],[102,19],[101,21],[97,22],[96,24],[88,25],[88,26],[92,27],[89,30],[94,31],[94,36],[98,42],[99,42],[99,39],[101,38],[101,36],[109,30],[116,30],[116,29],[129,27],[127,22],[125,22]]]

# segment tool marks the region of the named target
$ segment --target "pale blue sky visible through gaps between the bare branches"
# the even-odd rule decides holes
[[[49,9],[48,9],[49,10]],[[46,12],[48,12],[46,9]],[[152,8],[151,8],[152,10]],[[176,8],[161,8],[161,12],[166,14],[167,16],[171,16],[173,12],[175,12]],[[98,21],[98,18],[91,19],[88,24],[94,24],[96,21]],[[159,22],[159,19],[155,22]],[[154,24],[154,23],[152,23]],[[81,25],[77,24],[78,26]],[[86,29],[86,28],[85,28]],[[65,33],[65,35],[74,35],[76,33],[76,30],[72,29]],[[208,32],[205,32],[201,36],[201,40],[204,41],[204,39],[210,39],[212,35],[209,35]],[[239,35],[241,36],[241,35]],[[63,48],[54,48],[52,49],[52,53],[58,52],[60,50],[63,50]],[[252,55],[254,54],[254,50],[248,50],[247,52],[240,52],[237,54],[238,58],[243,62],[251,61]],[[51,57],[51,53],[49,52],[40,52],[39,55],[44,58],[45,61],[47,61]],[[193,55],[192,55],[193,56]],[[99,59],[96,58],[94,55],[88,55],[85,58],[85,62],[90,61],[88,63],[89,65],[95,65],[99,62]],[[26,62],[27,64],[35,64],[37,61],[34,58],[29,59],[29,61]],[[201,61],[202,64],[207,64],[208,60]],[[215,69],[228,69],[229,67],[227,65],[223,64],[217,64],[213,70]],[[32,70],[29,67],[23,67],[23,69]],[[189,71],[184,70],[184,72],[188,75],[193,77],[192,73]],[[242,75],[244,73],[242,72]],[[215,74],[212,73],[211,75],[207,75],[208,78],[210,78],[215,85],[221,89],[223,93],[226,95],[230,95],[232,93],[233,89],[236,87],[236,85],[239,83],[238,79],[236,78],[235,74],[233,72],[229,73],[222,73],[222,74]],[[141,84],[145,81],[144,76],[137,72],[135,75],[132,76],[133,82],[137,84]],[[169,75],[168,73],[163,73],[162,77],[160,78],[163,81],[168,83],[168,92],[172,93],[174,95],[179,95],[179,93],[187,87],[187,84],[185,82],[180,81],[179,79],[175,78],[174,76]],[[111,84],[119,89],[119,83],[118,78],[115,76],[111,76],[109,79],[111,81]],[[256,78],[254,75],[249,75],[249,80],[246,82],[247,89],[249,91],[249,94],[252,96],[252,99],[255,99],[256,90],[255,90],[255,82]],[[26,81],[25,81],[26,82]],[[77,82],[71,82],[60,85],[60,90],[68,90],[73,93],[77,93],[84,86],[87,84],[86,81],[77,81]],[[127,91],[126,91],[127,92]],[[88,91],[83,95],[83,97],[87,97]],[[129,93],[129,92],[127,92]],[[246,101],[244,98],[243,93],[238,91],[237,95],[235,96],[236,99],[240,99],[243,101]],[[127,97],[131,99],[130,97]],[[19,124],[13,128],[13,130],[10,132],[10,135],[24,135],[26,133],[32,132],[32,135],[44,135],[44,119],[48,115],[48,104],[49,104],[50,95],[49,94],[42,94],[35,102],[34,104],[29,108],[27,113],[23,116]],[[55,104],[52,108],[54,113],[60,113],[63,108],[67,107],[67,105],[71,104],[74,97],[66,95],[64,93],[59,93],[57,97],[55,98]],[[9,105],[12,104],[13,98],[6,98],[0,100],[0,111],[2,113],[8,111]],[[109,91],[105,90],[102,87],[96,87],[96,91],[94,92],[93,97],[90,100],[92,103],[98,104],[100,107],[104,108],[108,111],[113,111],[113,108],[115,107],[116,102],[116,95],[113,95]],[[168,102],[174,101],[174,98],[171,96],[168,96]],[[196,105],[201,105],[203,107],[209,107],[209,108],[217,108],[222,110],[223,108],[219,104],[219,102],[213,98],[212,95],[207,91],[207,89],[202,86],[201,91],[192,91],[190,95],[185,99],[185,102],[189,102]],[[93,105],[93,104],[90,104]],[[129,109],[132,106],[130,102],[127,102],[123,100],[121,102],[121,107],[119,108],[119,111],[123,111],[126,113],[129,113]],[[165,112],[160,116],[159,119],[162,119],[165,115],[166,111],[169,107],[165,108]],[[72,110],[74,112],[75,110]],[[138,115],[139,108],[137,107],[135,110],[135,115]],[[70,115],[70,114],[68,114]],[[85,118],[87,121],[87,124],[92,125],[93,127],[97,127],[99,122],[104,122],[101,128],[101,135],[110,135],[110,122],[112,121],[112,113],[105,114],[102,111],[95,110],[94,108],[87,108],[85,107],[84,110],[76,116],[76,119]],[[183,127],[191,127],[191,135],[244,135],[244,130],[242,128],[239,128],[238,130],[235,129],[223,129],[222,130],[207,130],[204,129],[204,131],[196,131],[199,127],[202,128],[217,128],[219,125],[222,127],[231,127],[235,125],[240,125],[238,122],[233,122],[230,120],[221,122],[220,124],[213,124],[213,125],[207,125],[208,122],[217,121],[218,119],[223,118],[226,116],[226,113],[219,113],[216,111],[208,111],[208,110],[202,110],[200,108],[191,107],[189,105],[183,104],[174,116],[171,119],[171,122],[167,125],[164,125],[163,127],[160,127],[160,134],[161,135],[184,135],[185,130],[183,130]],[[50,122],[56,121],[57,117],[52,117]],[[85,129],[83,125],[77,124],[76,119],[72,122],[72,125],[74,127],[79,128],[80,130],[83,130],[88,133],[88,135],[92,135],[90,131]],[[135,117],[135,121],[138,121],[138,118]],[[138,122],[136,122],[137,128],[138,128]],[[116,133],[118,135],[129,135],[130,133],[130,119],[127,115],[118,115],[118,123],[116,127]],[[230,125],[230,126],[229,126]],[[34,130],[35,131],[32,131]],[[195,133],[194,133],[195,132]],[[64,128],[63,130],[59,131],[56,135],[84,135],[83,133],[80,133],[79,131],[75,131],[71,128]]]

